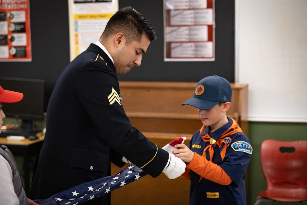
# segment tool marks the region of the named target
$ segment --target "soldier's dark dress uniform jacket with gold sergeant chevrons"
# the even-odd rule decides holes
[[[169,153],[131,126],[119,95],[115,66],[95,44],[64,69],[49,100],[29,198],[110,175],[110,160],[123,166],[122,156],[153,177],[161,174]],[[107,204],[105,198],[87,204]]]

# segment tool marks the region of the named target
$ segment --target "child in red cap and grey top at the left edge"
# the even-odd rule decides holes
[[[19,102],[22,98],[22,93],[5,90],[0,86],[0,128],[5,118],[5,114],[2,110],[3,104]],[[16,166],[10,156],[4,151],[5,149],[6,146],[0,144],[0,204],[36,204],[31,199],[27,198]]]

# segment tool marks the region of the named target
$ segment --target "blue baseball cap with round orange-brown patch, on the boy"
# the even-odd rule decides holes
[[[183,103],[206,110],[220,102],[231,102],[232,89],[230,83],[223,77],[214,75],[198,82],[193,97]]]

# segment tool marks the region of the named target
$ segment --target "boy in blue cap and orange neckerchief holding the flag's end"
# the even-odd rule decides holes
[[[193,97],[183,103],[198,108],[204,124],[189,143],[177,144],[173,154],[185,161],[191,180],[190,205],[246,204],[245,172],[252,147],[234,119],[227,117],[232,89],[217,75],[203,78]]]

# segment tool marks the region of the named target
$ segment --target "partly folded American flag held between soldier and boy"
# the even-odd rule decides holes
[[[180,137],[173,140],[162,149],[171,153],[172,150],[176,149],[173,146],[183,143],[185,139],[186,137]],[[65,191],[61,191],[48,199],[35,199],[33,201],[40,205],[76,205],[87,202],[88,200],[95,200],[95,198],[134,182],[145,175],[147,175],[145,171],[134,164],[130,164],[116,175],[79,184]]]

